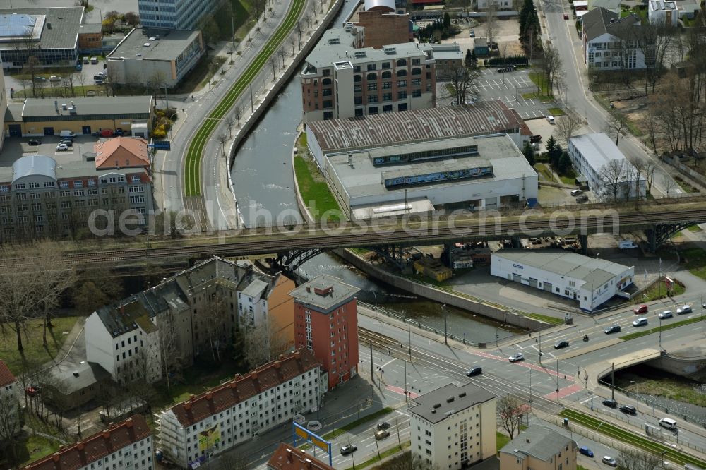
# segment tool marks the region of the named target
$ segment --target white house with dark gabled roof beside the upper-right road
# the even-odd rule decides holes
[[[581,17],[584,62],[598,71],[645,68],[645,53],[639,35],[640,18],[620,18],[606,8],[594,8]]]

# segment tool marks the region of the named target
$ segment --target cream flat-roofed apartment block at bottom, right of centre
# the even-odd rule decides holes
[[[496,455],[496,396],[455,384],[414,399],[412,453],[438,469],[457,470]]]

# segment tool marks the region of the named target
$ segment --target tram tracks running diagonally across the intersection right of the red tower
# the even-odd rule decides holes
[[[371,330],[366,330],[366,328],[358,327],[358,340],[362,344],[370,344],[372,342],[373,348],[383,352],[389,351],[390,356],[395,358],[409,358],[409,344],[401,344],[396,339],[386,337],[385,335]],[[412,358],[415,363],[421,366],[435,370],[443,370],[452,378],[483,387],[485,390],[489,390],[498,397],[509,394],[520,402],[525,402],[529,398],[529,392],[525,387],[521,387],[515,382],[499,378],[497,375],[484,372],[482,375],[476,377],[467,377],[466,371],[469,365],[461,363],[460,361],[434,356],[428,351],[424,351],[424,349],[419,349],[415,346],[412,346]],[[542,395],[532,396],[532,407],[549,414],[557,414],[563,409],[561,404],[546,399]]]

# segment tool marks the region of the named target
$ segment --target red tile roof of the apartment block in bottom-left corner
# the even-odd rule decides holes
[[[32,462],[23,467],[25,470],[74,470],[96,462],[117,450],[138,442],[152,435],[147,421],[142,415],[114,424],[101,433],[94,434],[85,440],[74,442],[59,452]],[[154,446],[152,446],[154,448]]]

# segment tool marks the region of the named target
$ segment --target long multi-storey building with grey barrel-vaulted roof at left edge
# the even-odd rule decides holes
[[[89,159],[60,164],[44,155],[25,155],[11,167],[0,167],[3,241],[80,234],[88,230],[89,216],[96,210],[103,214],[95,220],[99,229],[110,218],[117,222],[124,212],[140,225],[152,208],[148,167],[99,169]]]

